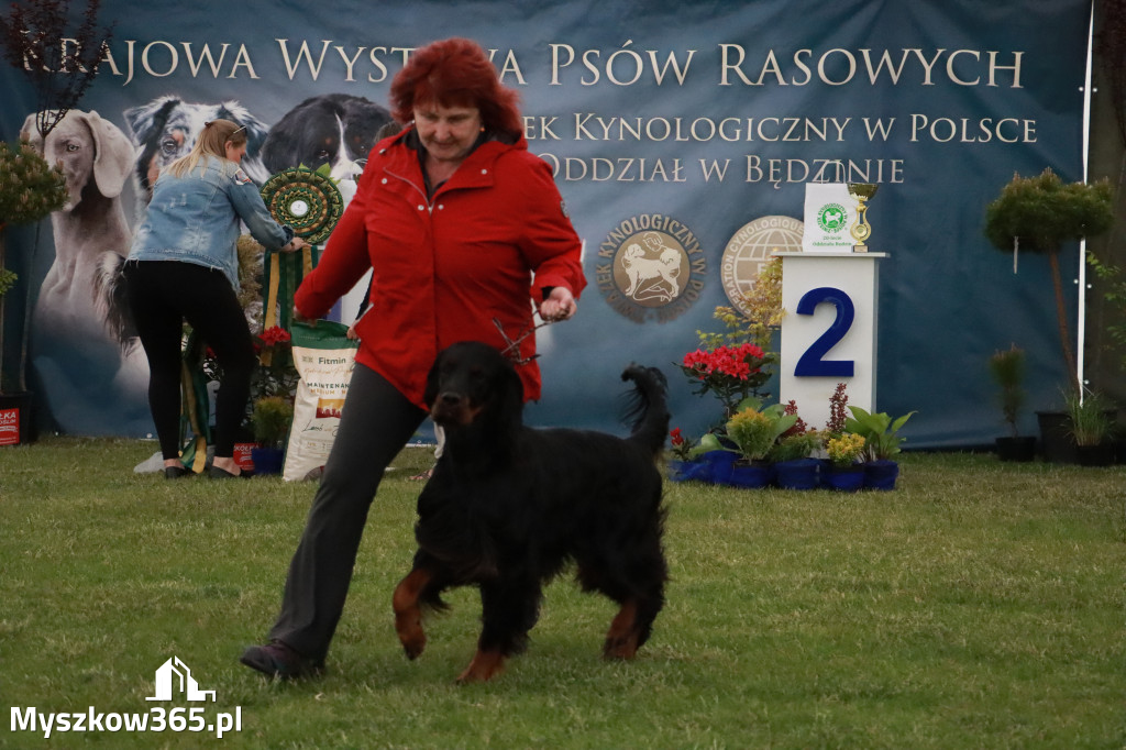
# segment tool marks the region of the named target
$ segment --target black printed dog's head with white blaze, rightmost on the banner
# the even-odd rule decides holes
[[[376,133],[390,122],[391,113],[364,97],[311,97],[270,128],[262,163],[270,172],[329,164],[333,179],[355,178],[364,171]]]

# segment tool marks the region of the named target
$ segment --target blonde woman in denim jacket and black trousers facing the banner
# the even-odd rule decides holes
[[[250,396],[254,347],[239,288],[239,222],[271,250],[307,243],[275,222],[258,188],[239,168],[247,132],[215,119],[188,155],[161,173],[125,264],[129,305],[149,359],[149,408],[164,457],[164,476],[189,472],[179,458],[180,337],[199,331],[223,372],[215,398],[212,477],[238,476],[234,437]]]

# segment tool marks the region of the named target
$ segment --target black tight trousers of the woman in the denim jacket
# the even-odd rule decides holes
[[[223,271],[177,260],[129,260],[124,274],[149,359],[149,409],[161,454],[167,461],[180,453],[180,340],[186,320],[223,369],[215,396],[215,455],[233,456],[257,360],[231,282]]]

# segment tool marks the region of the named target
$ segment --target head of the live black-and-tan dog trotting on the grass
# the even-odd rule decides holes
[[[480,341],[444,349],[427,375],[426,403],[436,425],[448,429],[519,425],[524,384],[501,352]]]

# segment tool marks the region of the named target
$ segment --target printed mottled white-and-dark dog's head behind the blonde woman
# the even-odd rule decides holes
[[[247,128],[247,154],[242,158],[242,170],[258,182],[269,178],[259,157],[269,128],[245,107],[238,101],[191,104],[176,96],[161,97],[125,110],[129,134],[141,149],[136,178],[145,205],[152,199],[152,187],[161,171],[180,157],[186,157],[204,125],[213,119],[229,119]]]

